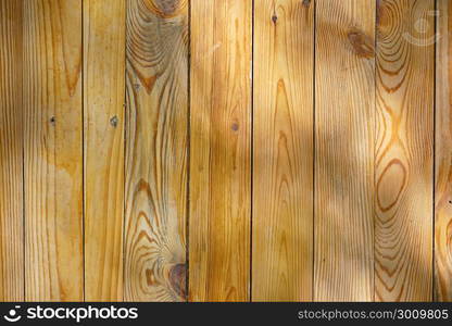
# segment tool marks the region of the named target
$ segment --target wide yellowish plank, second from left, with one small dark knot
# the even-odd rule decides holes
[[[81,3],[24,1],[25,299],[83,300]]]

